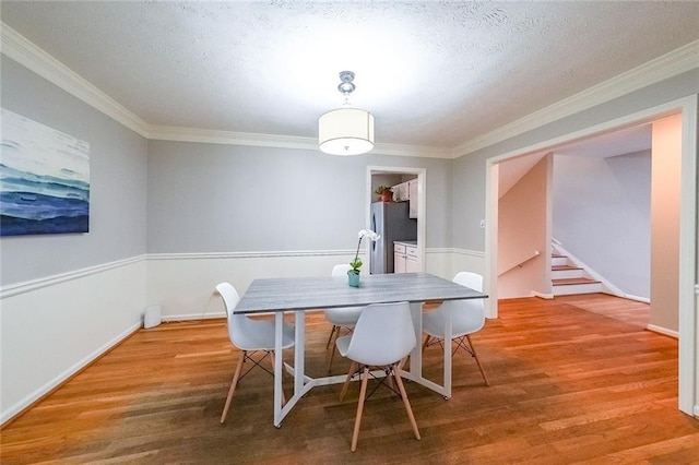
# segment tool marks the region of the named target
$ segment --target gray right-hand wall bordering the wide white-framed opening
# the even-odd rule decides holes
[[[485,251],[486,159],[590,128],[616,118],[699,94],[699,69],[650,85],[535,130],[475,151],[454,160],[453,247]]]

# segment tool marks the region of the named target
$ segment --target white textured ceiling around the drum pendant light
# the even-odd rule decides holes
[[[2,22],[147,123],[453,147],[699,38],[699,2],[5,1]]]

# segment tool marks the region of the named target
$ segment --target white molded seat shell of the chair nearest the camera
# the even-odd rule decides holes
[[[407,356],[416,341],[408,302],[372,303],[362,311],[346,356],[364,365],[391,365]]]

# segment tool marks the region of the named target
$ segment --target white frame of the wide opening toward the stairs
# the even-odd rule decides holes
[[[682,115],[682,195],[679,208],[679,319],[678,381],[679,409],[699,417],[699,332],[697,300],[697,110],[699,96],[673,100],[625,117],[486,159],[486,286],[490,298],[486,314],[497,318],[498,164],[531,153],[544,152],[629,126],[649,123],[671,115]]]

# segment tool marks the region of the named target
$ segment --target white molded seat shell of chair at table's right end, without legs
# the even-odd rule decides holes
[[[452,279],[462,286],[483,291],[483,276],[472,272],[457,273]],[[447,311],[451,312],[451,334],[454,337],[475,333],[485,324],[483,299],[451,300],[445,302],[437,311],[441,318],[446,318]]]

